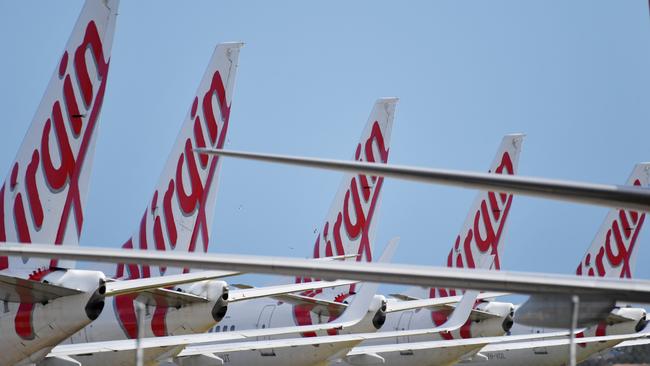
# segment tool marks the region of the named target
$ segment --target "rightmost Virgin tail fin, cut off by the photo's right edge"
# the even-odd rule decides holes
[[[627,180],[628,185],[648,187],[650,163],[639,163]],[[612,209],[605,217],[587,253],[578,264],[577,275],[632,278],[636,265],[635,244],[645,213]]]

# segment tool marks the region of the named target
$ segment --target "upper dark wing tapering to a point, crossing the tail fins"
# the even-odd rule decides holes
[[[422,183],[452,185],[470,189],[507,192],[614,208],[650,211],[650,189],[639,187],[208,148],[195,149],[194,151],[199,154],[229,156],[264,162],[337,170],[346,173],[367,174],[371,176],[378,175]]]

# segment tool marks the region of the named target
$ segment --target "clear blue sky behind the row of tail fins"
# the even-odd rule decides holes
[[[0,170],[81,1],[0,1]],[[650,160],[650,17],[627,1],[128,1],[120,5],[83,245],[121,245],[218,42],[246,42],[227,147],[349,159],[374,100],[398,96],[392,163],[485,171],[528,136],[523,175],[623,183]],[[211,251],[305,257],[340,174],[226,160]],[[379,251],[441,265],[474,191],[389,180]],[[606,209],[515,197],[504,269],[572,273]],[[647,225],[646,225],[647,226]],[[650,279],[650,229],[638,278]]]

